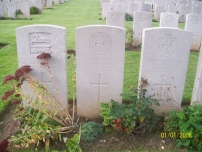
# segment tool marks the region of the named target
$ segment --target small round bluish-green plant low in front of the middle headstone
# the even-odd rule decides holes
[[[89,121],[82,124],[81,127],[81,139],[85,141],[93,141],[99,135],[101,135],[103,129],[99,123]]]

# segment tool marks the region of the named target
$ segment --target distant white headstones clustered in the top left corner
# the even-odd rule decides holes
[[[67,2],[68,0],[66,0]],[[54,5],[64,3],[64,0],[54,0]],[[0,2],[0,17],[6,15],[10,18],[15,18],[15,11],[22,11],[22,18],[30,19],[30,7],[35,6],[39,9],[39,14],[42,13],[45,1],[43,0],[24,0],[24,1],[4,1]],[[52,8],[52,0],[46,0],[46,8]]]

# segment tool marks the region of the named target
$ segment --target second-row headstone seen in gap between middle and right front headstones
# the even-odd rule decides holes
[[[133,17],[133,45],[142,43],[142,32],[145,28],[152,27],[152,12],[135,12]]]

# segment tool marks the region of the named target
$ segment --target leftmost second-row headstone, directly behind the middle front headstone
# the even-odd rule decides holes
[[[109,11],[107,12],[106,25],[118,26],[124,28],[125,12]]]

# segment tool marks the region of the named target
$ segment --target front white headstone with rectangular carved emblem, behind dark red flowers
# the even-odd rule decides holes
[[[19,67],[30,65],[33,68],[30,75],[44,84],[47,90],[67,109],[66,29],[53,25],[23,26],[16,29],[16,38]],[[47,68],[41,65],[43,60],[37,59],[41,53],[51,54],[48,64],[52,76]],[[28,83],[23,83],[22,89],[30,97],[36,97]],[[24,104],[26,105],[26,102]],[[60,113],[60,110],[58,112]]]

